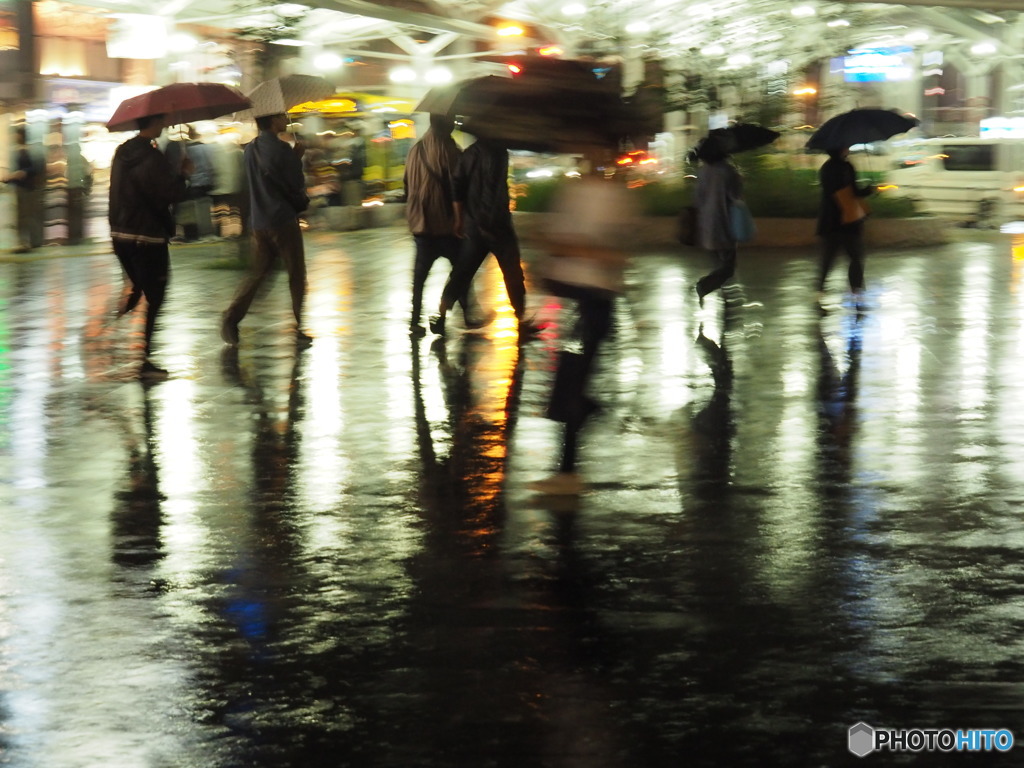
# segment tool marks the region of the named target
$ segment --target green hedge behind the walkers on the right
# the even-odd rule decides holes
[[[743,155],[736,161],[743,174],[743,196],[755,216],[764,218],[817,218],[820,206],[818,171],[816,168],[794,168],[779,162],[779,155]],[[823,158],[822,158],[823,162]],[[882,172],[858,172],[862,181],[879,183]],[[516,199],[516,210],[546,212],[560,184],[570,179],[531,181],[526,195]],[[641,207],[648,216],[675,216],[689,205],[694,179],[655,181],[637,188]],[[871,196],[871,215],[878,218],[909,218],[918,215],[912,201],[887,195]]]

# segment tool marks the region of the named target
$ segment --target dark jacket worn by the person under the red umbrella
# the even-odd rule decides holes
[[[174,234],[171,205],[185,199],[185,177],[145,136],[125,141],[111,164],[108,218],[116,240],[166,243]]]

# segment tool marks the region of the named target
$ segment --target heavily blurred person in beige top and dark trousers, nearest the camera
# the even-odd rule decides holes
[[[611,333],[615,297],[625,287],[639,211],[622,179],[605,176],[603,168],[610,157],[609,152],[589,153],[588,175],[559,190],[556,215],[545,233],[549,288],[556,296],[575,301],[572,335],[581,351],[563,349],[558,357],[548,418],[564,422],[565,435],[558,471],[529,484],[542,494],[575,496],[583,489],[577,472],[580,432],[599,408],[587,395],[587,387],[601,342]]]

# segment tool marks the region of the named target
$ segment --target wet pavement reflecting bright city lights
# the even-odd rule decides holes
[[[530,286],[547,328],[519,346],[488,262],[498,321],[411,341],[400,227],[307,243],[301,351],[283,280],[226,350],[241,273],[174,249],[151,385],[111,256],[0,264],[0,765],[831,766],[866,764],[857,721],[1024,737],[1024,240],[872,253],[866,310],[820,316],[808,251],[741,253],[703,309],[699,253],[637,258],[575,505],[526,489],[559,447],[559,300]]]

